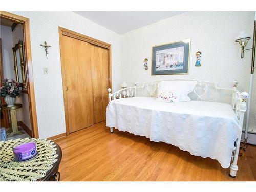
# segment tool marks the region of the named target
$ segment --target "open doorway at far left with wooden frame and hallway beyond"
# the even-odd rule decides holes
[[[38,138],[29,19],[9,12],[0,11],[0,21],[1,24],[5,25],[5,27],[8,27],[9,25],[11,32],[16,30],[16,34],[12,34],[12,38],[14,39],[12,40],[12,45],[10,45],[11,47],[9,46],[12,54],[9,56],[7,55],[6,57],[7,60],[10,59],[9,62],[3,63],[3,44],[2,50],[0,50],[0,83],[2,84],[3,79],[6,77],[8,79],[14,79],[20,83],[23,83],[24,86],[22,96],[16,99],[15,102],[18,102],[18,105],[15,106],[17,106],[17,109],[23,110],[21,114],[24,116],[20,117],[21,115],[16,115],[16,108],[15,110],[6,109],[6,103],[4,99],[1,98],[1,115],[3,117],[1,120],[1,127],[5,129],[7,127],[11,127],[11,131],[13,132],[14,127],[18,125],[19,127],[22,127],[23,131],[27,132],[27,135],[30,137]],[[9,30],[9,28],[6,29]],[[3,40],[4,39],[2,38],[2,42]],[[5,42],[8,42],[8,40]],[[6,50],[4,54],[6,54]],[[13,62],[11,62],[11,60]],[[22,102],[22,104],[20,102]],[[3,136],[3,134],[1,134],[1,136]],[[15,137],[13,139],[19,138],[17,134],[14,136]],[[8,139],[8,137],[6,139]]]

